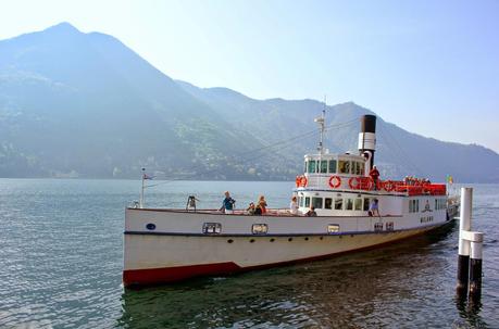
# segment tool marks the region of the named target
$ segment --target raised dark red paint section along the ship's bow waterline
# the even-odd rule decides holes
[[[233,262],[189,265],[163,268],[128,269],[123,271],[125,287],[135,284],[166,283],[207,275],[221,275],[239,271],[241,268]]]

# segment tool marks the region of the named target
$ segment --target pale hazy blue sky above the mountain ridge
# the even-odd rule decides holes
[[[249,97],[353,101],[499,151],[499,1],[0,0],[0,39],[70,22],[166,75]]]

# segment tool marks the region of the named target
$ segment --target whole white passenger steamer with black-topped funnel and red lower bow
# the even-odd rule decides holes
[[[323,148],[324,113],[317,152],[304,156],[305,170],[292,194],[299,214],[267,210],[262,216],[236,210],[126,208],[125,287],[225,275],[345,252],[375,248],[425,233],[450,223],[445,184],[378,180],[374,163],[376,117],[361,118],[358,154],[332,154]],[[142,178],[144,193],[144,178]],[[370,203],[378,201],[371,216]],[[303,216],[310,206],[317,216]]]

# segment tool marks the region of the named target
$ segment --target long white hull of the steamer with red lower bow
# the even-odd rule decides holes
[[[426,223],[429,217],[433,220]],[[203,233],[204,223],[220,223],[221,232]],[[423,217],[311,218],[130,208],[123,281],[125,286],[172,282],[325,258],[410,238],[446,223],[445,210]],[[147,229],[148,224],[154,229]],[[266,224],[269,231],[253,235],[253,224]],[[339,231],[328,232],[332,224]]]

